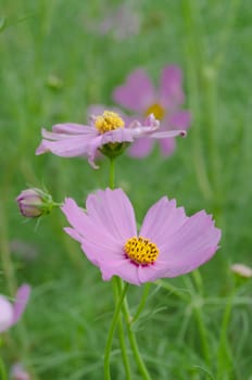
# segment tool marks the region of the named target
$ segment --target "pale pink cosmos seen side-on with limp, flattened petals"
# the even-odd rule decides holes
[[[91,117],[91,125],[56,124],[52,132],[42,129],[42,141],[36,154],[52,152],[62,157],[88,156],[89,164],[97,168],[94,157],[100,150],[113,151],[126,148],[128,142],[146,137],[147,139],[164,139],[176,136],[185,136],[185,130],[159,131],[160,123],[149,115],[143,124],[134,121],[124,127],[125,122],[118,114],[104,111],[102,115]],[[106,154],[109,155],[109,154]]]

